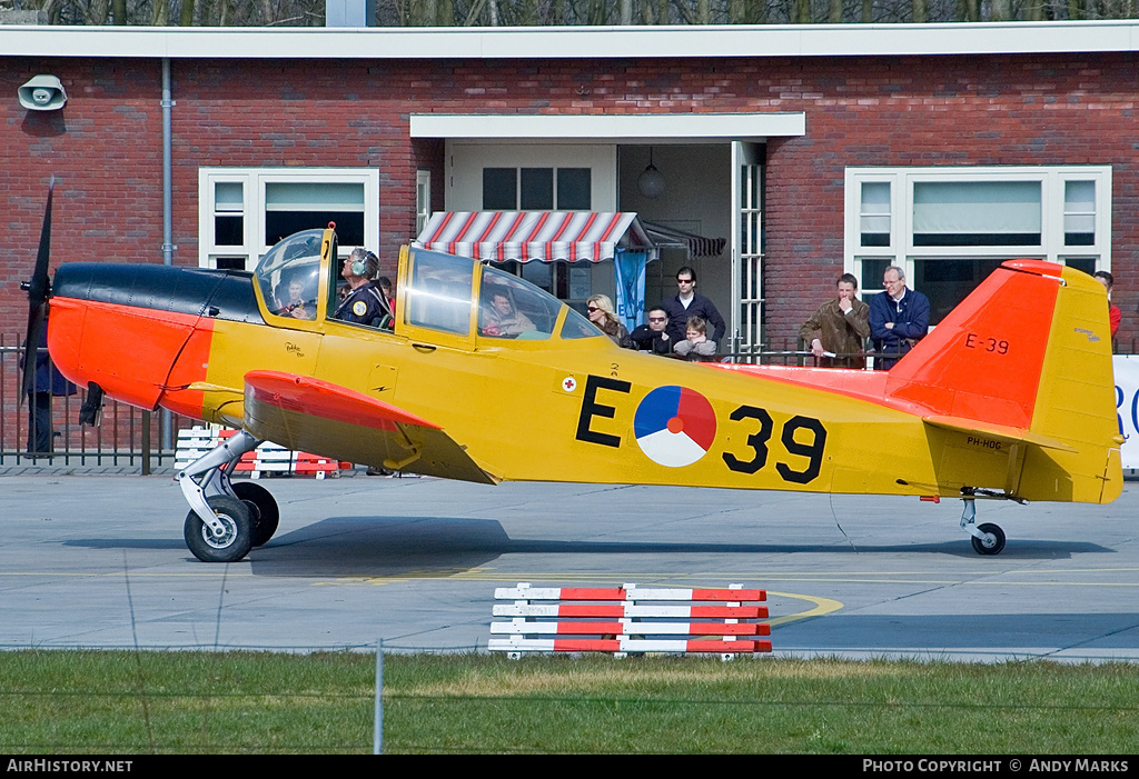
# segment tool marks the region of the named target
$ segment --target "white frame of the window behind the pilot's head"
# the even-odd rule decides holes
[[[241,183],[244,200],[244,235],[241,246],[216,246],[214,238],[214,184]],[[252,271],[272,246],[264,243],[265,187],[276,183],[363,184],[364,247],[379,249],[379,171],[377,168],[198,168],[198,266],[218,267],[219,257],[245,257],[246,270]],[[341,245],[339,255],[346,257],[355,247]]]

